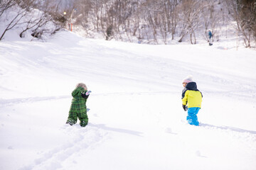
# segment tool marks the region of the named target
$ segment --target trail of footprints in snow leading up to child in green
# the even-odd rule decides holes
[[[68,141],[63,142],[58,147],[50,149],[48,152],[41,154],[41,157],[35,159],[33,163],[21,167],[21,169],[59,169],[62,168],[62,162],[67,159],[72,160],[72,156],[85,152],[88,148],[93,148],[104,141],[107,133],[95,127],[81,128],[80,125],[73,125],[66,127],[65,125],[60,128],[66,132],[73,133]],[[74,145],[75,144],[75,145]]]

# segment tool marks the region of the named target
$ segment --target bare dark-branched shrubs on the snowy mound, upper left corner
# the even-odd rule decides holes
[[[33,1],[1,1],[0,4],[0,40],[6,33],[20,38],[43,38],[63,28],[65,20],[54,20],[50,11],[40,11]],[[13,30],[13,31],[10,31]]]

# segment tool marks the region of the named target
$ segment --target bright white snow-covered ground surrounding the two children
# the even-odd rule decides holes
[[[256,51],[145,45],[61,31],[0,42],[0,169],[255,169]],[[186,123],[181,81],[203,93]],[[89,124],[65,121],[79,82]]]

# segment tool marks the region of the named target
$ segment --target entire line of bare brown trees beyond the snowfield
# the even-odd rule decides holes
[[[48,21],[56,29],[82,27],[87,37],[101,33],[106,40],[129,40],[158,44],[168,40],[189,40],[197,43],[198,37],[218,40],[220,30],[235,21],[238,35],[251,47],[256,42],[256,0],[73,0],[65,1],[1,0],[0,17],[7,8],[21,6],[17,17],[10,20],[9,30],[19,19],[28,15],[31,8],[43,11],[38,18],[27,21],[26,30],[39,28]],[[63,12],[65,11],[65,15]],[[42,29],[41,29],[42,30]],[[41,31],[42,32],[42,31]],[[21,33],[21,37],[23,36]],[[42,32],[43,33],[43,32]],[[1,33],[0,33],[1,34]]]

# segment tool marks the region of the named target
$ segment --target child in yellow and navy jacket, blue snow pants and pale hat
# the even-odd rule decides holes
[[[182,91],[182,107],[184,111],[188,111],[186,120],[190,125],[198,126],[198,111],[201,109],[201,103],[203,95],[201,91],[197,89],[196,82],[193,82],[192,77],[186,77],[183,79],[183,91]]]

